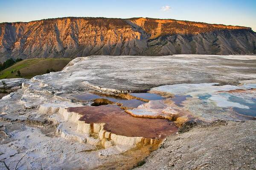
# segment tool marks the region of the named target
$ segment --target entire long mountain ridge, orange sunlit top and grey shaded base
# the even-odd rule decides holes
[[[0,24],[0,60],[89,55],[256,54],[251,28],[151,18]]]

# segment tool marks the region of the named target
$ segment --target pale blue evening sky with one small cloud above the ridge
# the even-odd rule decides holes
[[[150,17],[256,31],[256,0],[0,0],[0,23],[56,17]]]

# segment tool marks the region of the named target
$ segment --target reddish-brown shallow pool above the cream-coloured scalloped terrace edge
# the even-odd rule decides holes
[[[67,110],[82,114],[80,121],[105,123],[105,130],[122,136],[163,139],[178,130],[174,122],[167,119],[136,118],[125,113],[117,105],[84,106]]]

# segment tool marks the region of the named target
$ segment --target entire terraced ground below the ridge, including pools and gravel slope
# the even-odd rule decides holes
[[[6,79],[1,168],[255,169],[255,61],[91,56]]]

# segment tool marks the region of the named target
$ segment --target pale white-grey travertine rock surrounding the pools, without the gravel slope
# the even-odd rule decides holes
[[[63,71],[30,80],[5,80],[10,85],[22,82],[22,89],[0,99],[0,152],[3,153],[0,160],[4,159],[10,169],[15,169],[16,162],[26,155],[20,161],[19,169],[37,169],[41,162],[43,169],[50,170],[84,167],[90,170],[109,168],[110,165],[118,169],[116,162],[125,166],[128,161],[134,161],[132,153],[120,153],[136,147],[143,141],[142,137],[116,135],[104,130],[104,123],[87,124],[79,121],[80,114],[67,112],[68,107],[88,105],[88,102],[73,100],[72,96],[89,90],[116,94],[160,85],[196,83],[162,86],[153,90],[190,94],[192,98],[183,102],[184,110],[191,111],[200,119],[241,120],[223,111],[214,98],[207,98],[211,102],[206,107],[198,95],[254,88],[255,84],[249,82],[235,86],[241,80],[256,79],[256,63],[244,61],[202,55],[79,57]],[[232,85],[213,86],[215,82]],[[250,91],[237,95],[249,101],[255,93]],[[145,113],[176,114],[173,106],[160,109],[143,105],[137,109],[145,109]],[[141,114],[141,111],[137,113]],[[149,143],[153,144],[154,140],[150,139]],[[131,168],[137,161],[120,169]]]

